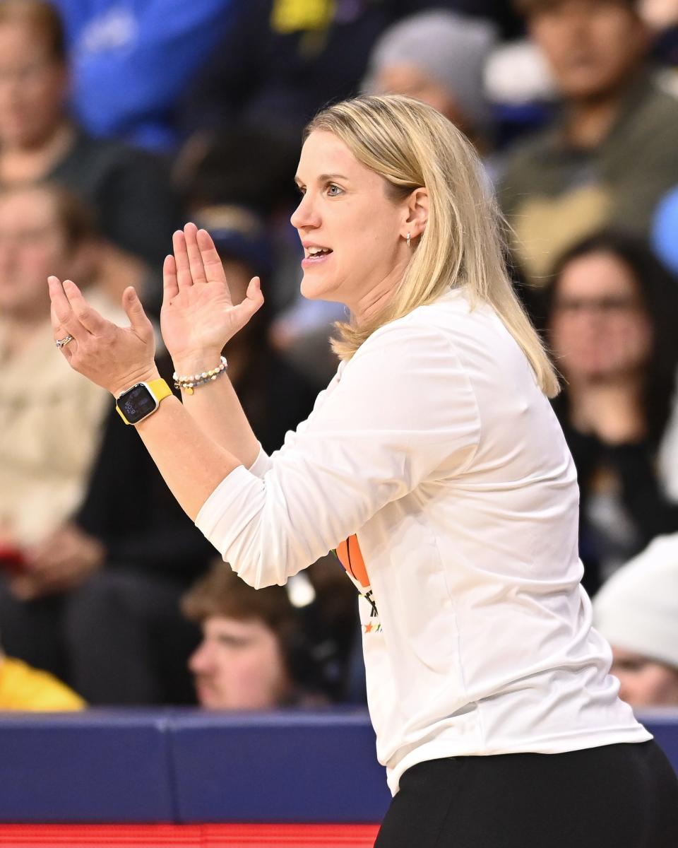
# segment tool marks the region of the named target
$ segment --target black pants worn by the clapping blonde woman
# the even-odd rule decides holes
[[[458,756],[408,769],[375,848],[677,848],[678,779],[654,742]]]

